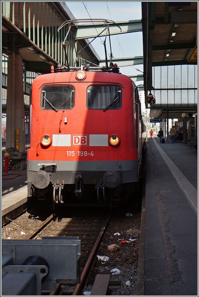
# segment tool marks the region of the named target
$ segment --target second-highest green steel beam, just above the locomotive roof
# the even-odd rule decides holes
[[[106,66],[105,59],[100,59],[99,62],[100,62],[99,63],[100,67]],[[108,64],[109,63],[110,63],[110,60],[108,60]],[[138,57],[127,57],[127,58],[113,58],[112,63],[113,64],[116,63],[118,67],[138,65],[138,64],[143,64],[143,57],[138,56]]]

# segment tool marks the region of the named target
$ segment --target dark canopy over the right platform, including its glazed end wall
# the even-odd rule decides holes
[[[148,108],[197,110],[197,5],[197,1],[142,2]],[[147,105],[149,92],[155,94],[155,106]]]

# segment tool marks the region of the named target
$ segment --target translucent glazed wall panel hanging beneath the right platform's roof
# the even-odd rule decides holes
[[[152,67],[156,108],[197,108],[197,65]]]

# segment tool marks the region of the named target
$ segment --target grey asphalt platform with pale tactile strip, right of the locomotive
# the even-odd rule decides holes
[[[144,207],[144,206],[143,206]],[[147,140],[141,240],[144,292],[198,296],[197,153],[183,143]]]

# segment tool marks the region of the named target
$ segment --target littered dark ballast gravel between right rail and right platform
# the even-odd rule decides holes
[[[125,214],[124,214],[125,215]],[[103,238],[100,255],[109,257],[109,261],[98,267],[98,273],[109,272],[113,268],[119,269],[120,274],[111,274],[110,281],[120,281],[120,286],[110,286],[110,295],[136,295],[137,267],[139,256],[141,213],[129,217],[112,217]],[[114,235],[120,233],[120,235]],[[130,239],[135,239],[129,241]],[[121,241],[128,241],[121,243]],[[109,252],[108,246],[117,244],[119,251]],[[111,273],[111,272],[110,272]],[[130,282],[130,286],[126,282]]]

